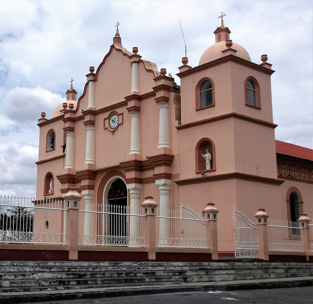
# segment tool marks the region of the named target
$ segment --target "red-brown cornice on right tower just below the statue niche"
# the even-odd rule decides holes
[[[218,174],[218,175],[212,175],[212,176],[207,176],[207,177],[185,178],[185,179],[176,180],[174,182],[178,184],[179,186],[184,186],[184,185],[193,185],[193,184],[198,184],[198,183],[227,180],[227,179],[241,179],[241,180],[248,180],[248,181],[276,185],[276,186],[280,186],[284,182],[276,178],[260,177],[256,175],[239,173],[239,172]]]

